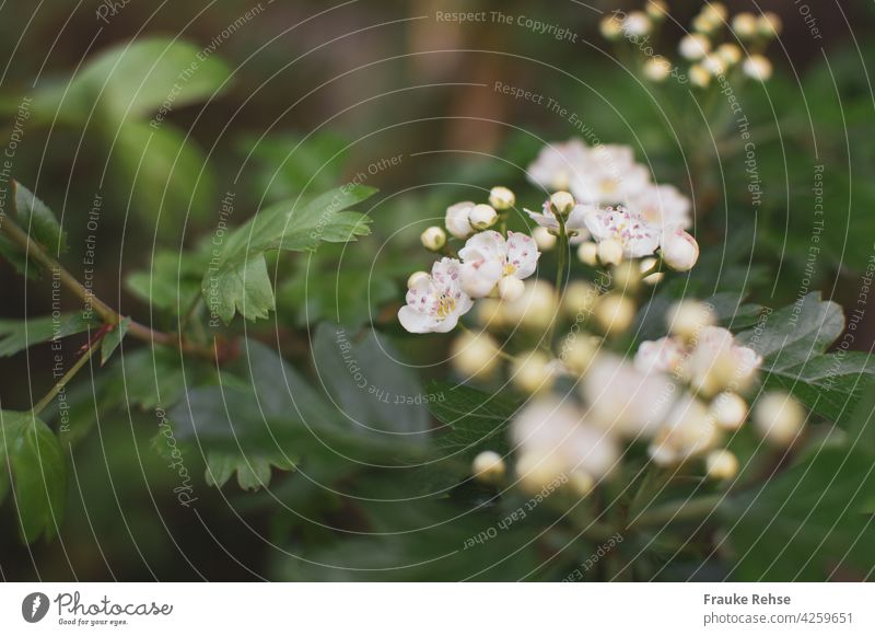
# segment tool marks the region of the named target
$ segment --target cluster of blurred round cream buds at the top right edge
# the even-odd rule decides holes
[[[644,54],[642,74],[650,81],[663,82],[669,76],[681,77],[670,58],[657,55],[650,44],[651,37],[656,39],[667,15],[665,2],[650,0],[643,11],[617,11],[606,16],[600,31],[607,39],[625,37],[637,44]],[[731,19],[723,3],[705,3],[678,44],[679,56],[690,65],[688,73],[682,76],[684,81],[705,88],[712,79],[726,76],[734,68],[740,69],[745,77],[767,81],[771,78],[772,65],[763,54],[769,42],[781,33],[781,19],[769,11],[760,15],[742,12]],[[721,42],[724,34],[725,39]]]

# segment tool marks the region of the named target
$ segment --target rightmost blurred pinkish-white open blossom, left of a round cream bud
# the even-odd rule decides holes
[[[684,377],[693,389],[713,395],[728,389],[744,389],[762,365],[754,349],[735,344],[732,332],[707,326],[699,333],[692,352],[681,366]]]

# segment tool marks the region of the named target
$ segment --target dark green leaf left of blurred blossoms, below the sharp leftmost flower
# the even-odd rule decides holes
[[[510,452],[506,429],[520,408],[517,401],[440,381],[430,383],[429,392],[441,396],[429,408],[444,424],[435,431],[434,442],[444,454],[472,458],[483,450]]]

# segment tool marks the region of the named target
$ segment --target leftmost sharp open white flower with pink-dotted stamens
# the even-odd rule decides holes
[[[441,258],[432,266],[431,276],[412,281],[398,321],[411,334],[446,333],[472,304],[462,290],[462,264],[455,258]]]

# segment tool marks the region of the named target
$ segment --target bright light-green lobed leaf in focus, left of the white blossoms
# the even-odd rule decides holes
[[[368,219],[343,211],[373,188],[347,186],[308,203],[287,201],[260,210],[234,230],[211,259],[201,290],[210,311],[226,324],[240,312],[246,320],[267,317],[276,307],[264,255],[275,250],[315,250],[319,242],[346,242],[366,234]]]

